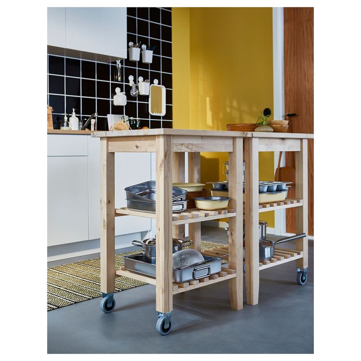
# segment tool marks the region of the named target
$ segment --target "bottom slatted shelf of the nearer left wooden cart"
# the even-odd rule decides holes
[[[147,284],[154,284],[155,285],[155,277],[146,276],[140,273],[131,272],[126,270],[124,267],[115,271],[115,277],[128,277],[137,281],[142,281]],[[236,271],[234,269],[230,269],[227,267],[222,267],[222,271],[216,273],[214,275],[210,275],[208,277],[201,278],[199,280],[191,280],[188,282],[184,282],[181,284],[173,283],[173,294],[182,293],[185,291],[190,291],[195,288],[203,287],[208,284],[215,284],[221,281],[227,281],[231,278],[236,277]]]

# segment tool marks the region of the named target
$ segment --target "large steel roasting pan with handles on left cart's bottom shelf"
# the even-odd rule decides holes
[[[189,266],[180,270],[174,270],[173,281],[176,283],[182,283],[190,280],[197,280],[221,272],[221,258],[214,259],[213,257],[207,256],[204,258],[205,260],[212,260],[199,266]],[[129,271],[155,277],[155,264],[147,263],[145,256],[142,253],[124,256],[124,267]]]

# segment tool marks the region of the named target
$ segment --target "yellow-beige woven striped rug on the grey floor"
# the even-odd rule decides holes
[[[202,241],[202,250],[217,246],[217,243]],[[115,255],[115,269],[124,266],[125,255],[134,253],[139,251]],[[128,277],[118,277],[115,279],[115,292],[143,284]],[[100,258],[48,268],[48,311],[100,296]]]

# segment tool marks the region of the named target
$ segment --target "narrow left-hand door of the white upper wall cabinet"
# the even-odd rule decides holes
[[[48,7],[48,45],[65,48],[65,7]]]

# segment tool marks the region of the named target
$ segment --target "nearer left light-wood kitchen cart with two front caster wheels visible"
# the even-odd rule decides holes
[[[115,307],[113,292],[115,278],[126,276],[155,284],[155,308],[158,312],[156,329],[166,335],[171,329],[173,294],[228,281],[232,309],[242,309],[242,163],[243,137],[251,133],[213,130],[147,129],[127,131],[96,131],[101,143],[101,308],[110,312]],[[257,138],[251,138],[257,139]],[[156,158],[156,212],[133,211],[128,208],[115,209],[114,202],[114,153],[154,152]],[[229,152],[229,196],[228,210],[200,212],[186,210],[184,214],[172,214],[172,181],[184,177],[184,152],[188,152],[188,181],[200,178],[200,152]],[[175,155],[173,155],[175,153]],[[174,159],[173,159],[174,158]],[[174,178],[172,179],[172,174]],[[183,176],[182,176],[183,175]],[[251,188],[252,189],[252,188]],[[156,219],[156,277],[145,276],[125,270],[115,270],[115,217],[137,215]],[[189,238],[193,247],[201,250],[200,222],[229,218],[229,268],[218,275],[184,284],[173,283],[172,236],[183,233],[183,225],[189,224]],[[174,229],[173,229],[174,228]],[[183,233],[184,234],[184,233]]]

